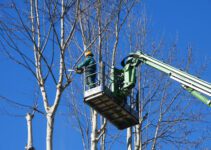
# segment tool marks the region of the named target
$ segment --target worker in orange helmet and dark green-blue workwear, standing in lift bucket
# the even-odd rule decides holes
[[[94,88],[96,79],[96,61],[91,50],[85,53],[85,60],[76,67],[76,73],[81,74],[85,72],[85,82],[88,87]]]

